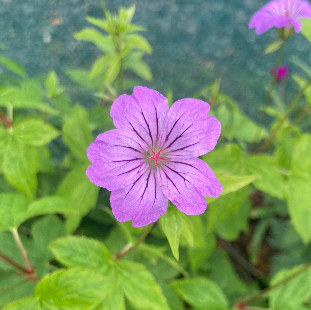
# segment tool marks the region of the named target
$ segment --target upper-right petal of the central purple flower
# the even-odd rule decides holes
[[[220,122],[207,115],[210,106],[198,99],[181,99],[169,110],[159,146],[166,158],[188,158],[210,152],[220,136]]]

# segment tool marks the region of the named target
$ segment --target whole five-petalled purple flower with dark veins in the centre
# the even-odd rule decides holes
[[[160,93],[139,86],[115,100],[110,115],[117,129],[91,143],[87,156],[93,165],[86,174],[112,191],[118,221],[133,219],[135,227],[155,222],[168,199],[188,215],[201,214],[207,207],[204,195],[220,195],[215,174],[197,158],[211,151],[220,135],[220,122],[207,115],[209,109],[189,98],[169,109]]]

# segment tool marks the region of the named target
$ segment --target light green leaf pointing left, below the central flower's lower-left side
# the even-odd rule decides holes
[[[83,236],[59,238],[49,245],[49,249],[59,262],[69,267],[104,271],[111,260],[111,254],[103,243]]]

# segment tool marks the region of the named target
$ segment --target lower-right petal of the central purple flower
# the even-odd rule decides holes
[[[166,161],[157,173],[165,196],[188,215],[205,211],[204,195],[217,197],[222,191],[211,168],[196,157]]]

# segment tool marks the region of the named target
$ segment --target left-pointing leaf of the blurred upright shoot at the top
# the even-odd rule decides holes
[[[114,45],[111,36],[103,35],[93,28],[84,28],[76,32],[74,38],[95,44],[102,52],[113,53]]]

